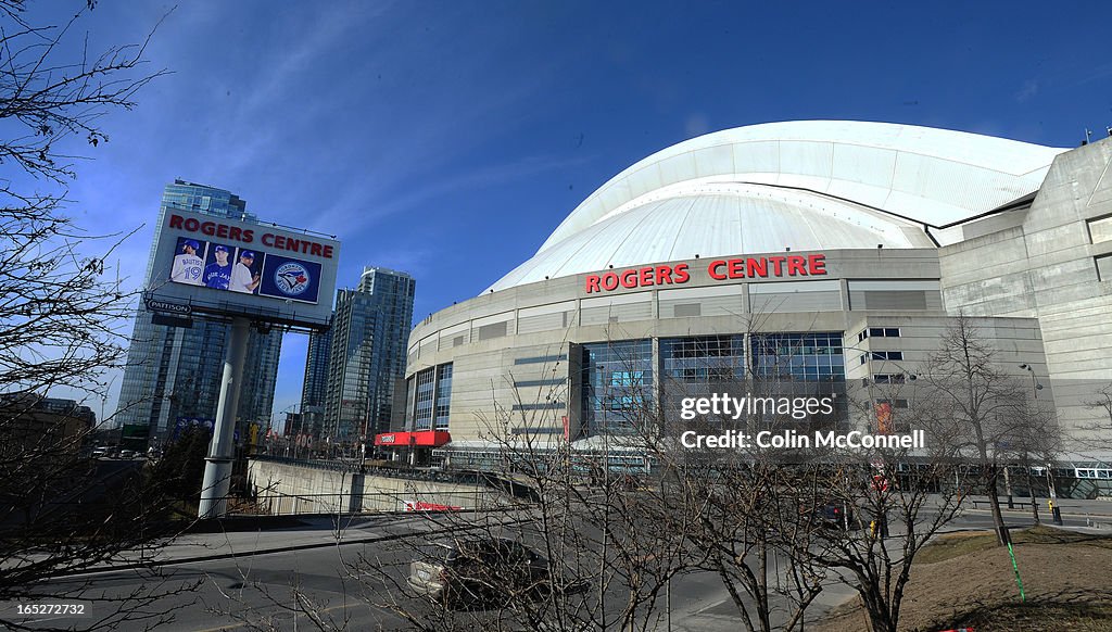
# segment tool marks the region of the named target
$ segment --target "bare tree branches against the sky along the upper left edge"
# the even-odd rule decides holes
[[[73,144],[108,141],[100,118],[136,106],[136,92],[166,71],[147,72],[147,42],[88,49],[68,59],[86,6],[61,26],[23,20],[23,0],[0,0],[0,391],[66,386],[98,392],[123,358],[129,315],[108,258],[121,235],[92,235],[66,214],[77,177]],[[149,37],[148,37],[149,40]],[[99,255],[86,254],[102,243]]]

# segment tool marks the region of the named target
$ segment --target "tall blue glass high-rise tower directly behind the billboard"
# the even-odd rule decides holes
[[[175,180],[162,191],[162,205],[156,226],[166,226],[168,210],[190,210],[214,217],[258,221],[247,213],[247,203],[238,196],[205,185]],[[153,278],[155,236],[147,264],[147,285]],[[161,274],[161,273],[158,273]],[[193,318],[191,327],[169,327],[151,322],[151,314],[140,307],[128,349],[128,363],[120,386],[118,424],[123,436],[139,443],[146,436],[160,443],[182,419],[214,419],[220,398],[225,347],[230,335],[226,323]],[[247,345],[245,382],[240,388],[237,425],[265,424],[274,405],[278,377],[281,332],[251,332]],[[246,436],[246,435],[241,435]]]

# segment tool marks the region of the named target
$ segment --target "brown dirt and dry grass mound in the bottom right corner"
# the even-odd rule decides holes
[[[1007,549],[992,545],[992,537],[954,534],[936,549],[924,549],[925,563],[916,562],[912,571],[900,629],[1112,632],[1112,539],[1050,529],[1021,534],[1015,546],[1026,594],[1021,603]],[[854,600],[812,630],[867,630],[867,623]]]

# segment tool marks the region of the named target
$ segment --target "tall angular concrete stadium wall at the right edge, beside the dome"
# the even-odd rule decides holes
[[[1110,167],[1109,139],[1062,154],[1030,209],[984,220],[987,229],[971,225],[964,241],[940,250],[947,312],[1039,319],[1069,447],[1101,458],[1112,447],[1092,427],[1105,413],[1089,402],[1112,384],[1112,278],[1096,267],[1112,240],[1094,243],[1088,220],[1112,215]]]

